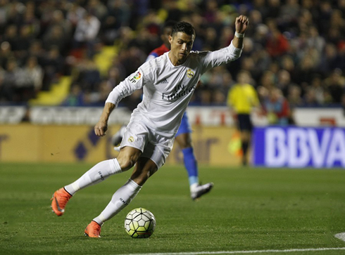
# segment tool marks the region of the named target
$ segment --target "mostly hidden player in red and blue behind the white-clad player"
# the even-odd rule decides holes
[[[169,37],[172,32],[172,27],[175,25],[175,21],[169,20],[165,22],[162,28],[161,39],[163,44],[158,48],[155,48],[146,59],[146,62],[153,60],[154,58],[163,55],[169,51],[170,43]],[[168,81],[165,81],[168,83]],[[126,126],[122,126],[118,132],[113,135],[112,143],[114,146],[118,145],[123,140],[123,134],[125,133]],[[198,165],[194,155],[192,147],[192,129],[188,122],[187,113],[184,112],[180,128],[177,130],[175,141],[178,143],[182,150],[184,167],[187,170],[189,180],[189,190],[191,192],[192,200],[196,200],[202,195],[206,194],[213,188],[213,183],[206,183],[199,185]]]

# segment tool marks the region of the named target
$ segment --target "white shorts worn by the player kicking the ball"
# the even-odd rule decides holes
[[[141,150],[140,157],[148,157],[159,169],[165,164],[174,140],[158,135],[143,122],[134,121],[127,125],[120,148],[130,146]]]

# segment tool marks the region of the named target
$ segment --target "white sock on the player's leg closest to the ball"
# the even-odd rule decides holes
[[[119,188],[111,198],[111,202],[106,206],[98,217],[94,218],[93,221],[103,225],[105,221],[118,214],[123,208],[127,207],[128,204],[134,199],[134,197],[139,193],[142,186],[138,185],[131,179],[125,183],[121,188]]]

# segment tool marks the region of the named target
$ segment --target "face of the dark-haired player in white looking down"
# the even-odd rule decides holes
[[[170,52],[173,64],[181,65],[187,59],[193,47],[194,34],[189,35],[184,32],[177,32],[173,37],[169,37]],[[175,62],[175,63],[174,63]]]

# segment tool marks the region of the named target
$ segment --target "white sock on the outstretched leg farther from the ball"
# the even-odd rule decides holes
[[[120,164],[118,164],[118,159],[104,160],[96,164],[92,169],[89,169],[89,171],[83,174],[82,177],[77,179],[74,183],[66,185],[65,190],[70,193],[70,195],[74,195],[75,192],[82,188],[100,183],[109,176],[120,173],[122,173],[122,170]]]

